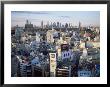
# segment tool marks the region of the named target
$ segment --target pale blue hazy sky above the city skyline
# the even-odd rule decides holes
[[[25,26],[26,20],[33,25],[40,26],[51,22],[61,22],[61,24],[72,23],[78,26],[79,21],[82,26],[100,26],[99,11],[12,11],[11,26]]]

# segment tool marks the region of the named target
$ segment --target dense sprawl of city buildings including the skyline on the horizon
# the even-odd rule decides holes
[[[100,27],[26,20],[11,28],[12,77],[100,77]]]

